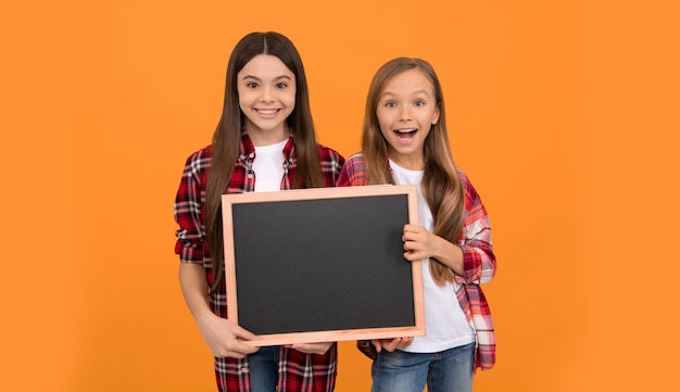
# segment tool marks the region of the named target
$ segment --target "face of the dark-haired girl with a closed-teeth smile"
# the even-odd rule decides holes
[[[288,138],[286,118],[295,108],[295,75],[275,55],[259,54],[239,71],[239,106],[255,146]]]

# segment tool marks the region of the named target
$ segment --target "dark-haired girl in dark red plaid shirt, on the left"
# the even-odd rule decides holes
[[[175,201],[181,291],[215,357],[219,391],[333,390],[336,343],[257,350],[244,344],[257,337],[226,318],[221,199],[224,193],[332,187],[343,163],[338,152],[316,142],[293,43],[278,33],[243,37],[229,58],[212,143],[187,160]]]

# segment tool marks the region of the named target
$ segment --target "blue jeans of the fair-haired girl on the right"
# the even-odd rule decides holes
[[[372,392],[470,392],[475,343],[439,353],[381,351],[373,362]]]

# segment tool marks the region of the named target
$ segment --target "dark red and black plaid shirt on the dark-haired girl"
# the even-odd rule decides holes
[[[324,185],[333,187],[344,159],[336,151],[319,146]],[[290,189],[295,173],[295,151],[292,136],[284,148],[286,157],[281,189]],[[213,262],[205,239],[205,187],[211,167],[212,147],[203,148],[187,160],[181,182],[175,199],[176,231],[175,253],[181,263],[203,265],[207,283],[214,281]],[[250,137],[243,134],[238,161],[229,181],[229,193],[252,192],[255,189],[253,161],[255,149]],[[304,186],[303,186],[304,187]],[[227,317],[226,286],[222,280],[218,292],[211,298],[213,312]],[[335,388],[337,375],[337,345],[333,344],[324,355],[304,354],[297,350],[280,347],[279,389],[280,392],[330,392]],[[250,392],[248,357],[243,359],[215,358],[215,375],[219,391]]]

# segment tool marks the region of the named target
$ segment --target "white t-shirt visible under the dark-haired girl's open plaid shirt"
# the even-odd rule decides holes
[[[284,147],[288,139],[269,146],[255,146],[255,192],[281,190]]]

